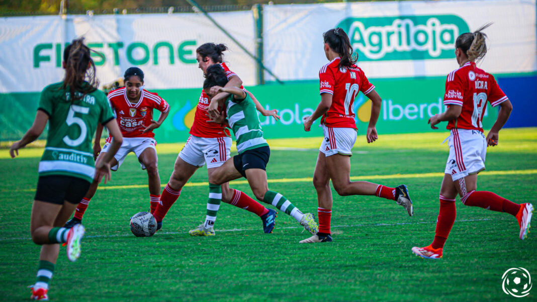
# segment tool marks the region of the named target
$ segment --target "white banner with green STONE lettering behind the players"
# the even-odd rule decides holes
[[[250,11],[211,16],[255,53]],[[80,36],[104,55],[94,57],[101,84],[137,66],[148,89],[199,88],[204,78],[195,49],[205,42],[227,45],[224,62],[245,85],[255,84],[255,61],[202,14],[10,17],[0,18],[0,93],[36,92],[59,82],[63,49]]]

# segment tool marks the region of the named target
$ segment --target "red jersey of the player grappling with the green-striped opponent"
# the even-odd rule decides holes
[[[226,76],[228,79],[230,77],[236,76],[237,74],[226,66],[226,63],[220,63],[222,68],[226,71]],[[244,89],[241,86],[241,89]],[[194,123],[192,128],[190,128],[190,134],[197,137],[205,138],[215,138],[215,137],[224,137],[230,136],[229,130],[217,123],[209,123],[209,117],[207,116],[207,109],[209,108],[209,97],[204,90],[201,90],[200,99],[198,101],[198,106],[196,107],[196,113],[194,115]]]

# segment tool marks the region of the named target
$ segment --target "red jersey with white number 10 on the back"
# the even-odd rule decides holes
[[[351,68],[339,68],[337,57],[324,65],[319,71],[320,93],[332,94],[332,105],[323,115],[321,123],[328,127],[354,128],[354,109],[352,104],[358,92],[368,94],[375,89],[367,79],[364,71],[356,65]]]

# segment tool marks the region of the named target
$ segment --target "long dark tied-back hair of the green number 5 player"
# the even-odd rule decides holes
[[[61,88],[69,88],[71,102],[82,99],[85,94],[96,91],[99,86],[91,51],[88,46],[84,45],[84,38],[72,40],[63,51],[66,76]],[[85,82],[88,83],[84,84]]]

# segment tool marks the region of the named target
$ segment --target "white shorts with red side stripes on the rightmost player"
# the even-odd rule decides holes
[[[485,170],[487,139],[483,132],[468,129],[452,129],[448,137],[449,157],[446,174],[453,181]]]

